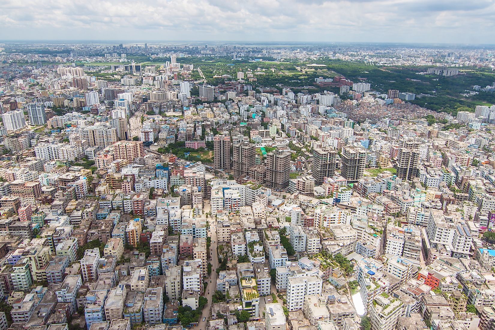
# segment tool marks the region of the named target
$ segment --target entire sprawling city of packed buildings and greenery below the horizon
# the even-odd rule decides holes
[[[494,68],[0,44],[0,330],[494,330]]]

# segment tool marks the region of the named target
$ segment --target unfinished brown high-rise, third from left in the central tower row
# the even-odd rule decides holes
[[[284,189],[289,184],[291,153],[275,150],[266,154],[266,184],[273,189]]]

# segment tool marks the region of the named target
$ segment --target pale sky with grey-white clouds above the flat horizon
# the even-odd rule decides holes
[[[495,0],[0,0],[0,40],[495,44]]]

